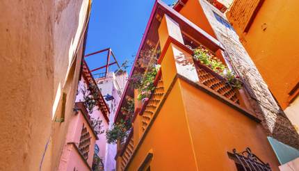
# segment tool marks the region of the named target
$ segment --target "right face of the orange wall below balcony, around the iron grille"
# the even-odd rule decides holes
[[[227,152],[234,148],[241,152],[246,147],[278,170],[278,161],[261,124],[186,81],[180,84],[200,170],[236,170]]]

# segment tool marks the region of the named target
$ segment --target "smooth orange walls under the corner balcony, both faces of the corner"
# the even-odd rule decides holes
[[[227,152],[245,147],[278,170],[262,130],[257,122],[178,79],[128,170],[137,170],[149,152],[155,170],[236,170]]]

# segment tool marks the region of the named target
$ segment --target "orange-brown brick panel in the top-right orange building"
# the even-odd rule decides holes
[[[245,31],[254,10],[261,1],[263,0],[235,0],[234,3],[232,3],[232,6],[227,12],[227,18],[239,35]]]

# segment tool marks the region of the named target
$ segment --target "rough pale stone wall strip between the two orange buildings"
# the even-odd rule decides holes
[[[272,136],[287,145],[299,149],[298,133],[280,109],[280,106],[277,105],[257,67],[239,41],[239,36],[232,29],[218,22],[213,11],[224,19],[226,19],[225,15],[207,3],[207,1],[199,1],[216,37],[225,47],[224,55],[226,60],[229,61],[234,71],[243,79],[245,88],[251,97],[250,103],[257,117],[261,120],[261,124],[266,129],[268,136]]]

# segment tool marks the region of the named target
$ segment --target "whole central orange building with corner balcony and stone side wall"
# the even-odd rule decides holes
[[[181,0],[173,8],[154,4],[115,116],[115,122],[126,120],[122,108],[133,99],[133,123],[118,140],[117,170],[279,170],[270,139],[299,147],[296,130],[213,5],[205,0]],[[140,64],[147,57],[161,67],[150,95],[140,101],[144,85],[140,91],[134,80],[152,72],[149,63]],[[231,72],[241,87],[229,82]]]

